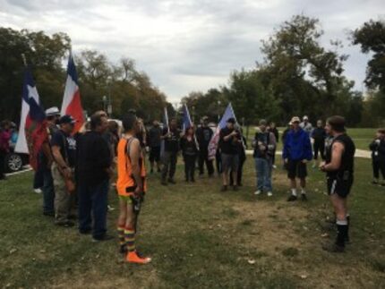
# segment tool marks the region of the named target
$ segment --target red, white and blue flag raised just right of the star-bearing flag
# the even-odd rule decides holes
[[[70,53],[67,66],[67,81],[65,81],[64,98],[60,115],[71,115],[77,121],[73,132],[78,132],[84,123],[83,108],[81,107],[81,93],[78,85],[78,73]]]

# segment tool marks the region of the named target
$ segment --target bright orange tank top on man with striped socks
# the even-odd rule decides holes
[[[122,138],[117,145],[117,182],[116,190],[120,196],[132,196],[133,191],[136,189],[136,182],[133,178],[133,165],[131,158],[128,155],[129,146],[131,145],[131,139]],[[146,168],[144,166],[144,159],[141,154],[139,158],[139,166],[141,168],[141,178],[143,182],[143,191],[147,190],[146,184]]]

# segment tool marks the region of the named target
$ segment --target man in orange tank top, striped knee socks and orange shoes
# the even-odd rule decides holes
[[[119,218],[117,231],[120,251],[129,263],[147,264],[150,258],[141,257],[136,251],[135,236],[141,202],[146,191],[146,170],[141,152],[141,143],[135,138],[139,125],[135,115],[123,119],[124,137],[117,146],[117,182],[119,195]]]

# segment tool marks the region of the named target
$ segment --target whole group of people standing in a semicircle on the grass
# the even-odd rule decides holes
[[[195,182],[195,170],[209,177],[214,175],[214,160],[222,175],[221,191],[242,185],[246,158],[246,139],[234,118],[218,135],[215,157],[210,156],[209,143],[214,130],[209,119],[201,125],[180,130],[175,119],[161,127],[154,121],[147,132],[134,112],[124,115],[122,126],[109,121],[107,114],[98,111],[83,124],[80,132],[73,133],[77,122],[71,115],[60,116],[57,107],[46,111],[47,140],[39,154],[39,170],[43,175],[43,214],[55,217],[55,224],[71,227],[73,217],[79,218],[80,234],[91,234],[94,242],[112,239],[107,234],[108,191],[116,188],[119,198],[117,234],[120,251],[128,262],[145,264],[150,258],[141,257],[136,250],[135,237],[141,203],[147,191],[145,157],[150,150],[150,173],[160,173],[163,185],[175,184],[175,170],[179,151],[184,158],[186,182]],[[4,130],[2,131],[4,132]],[[2,134],[4,135],[4,134]],[[4,136],[3,136],[4,137]],[[274,123],[261,120],[252,141],[257,173],[256,195],[266,192],[272,196],[272,170],[277,151],[278,130]],[[282,159],[290,179],[288,201],[307,200],[307,163],[327,174],[327,187],[336,214],[337,241],[329,251],[344,251],[348,241],[349,216],[347,196],[354,180],[355,144],[345,130],[345,119],[329,117],[325,127],[321,121],[312,128],[307,117],[294,116],[282,136]],[[379,171],[385,173],[385,131],[379,130],[373,140],[373,172],[379,182]],[[321,157],[322,162],[317,159]],[[117,177],[115,176],[117,172]],[[299,191],[297,180],[299,179]],[[116,180],[116,183],[114,181]],[[77,212],[75,208],[77,207]]]

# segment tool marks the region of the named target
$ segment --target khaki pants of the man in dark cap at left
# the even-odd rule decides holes
[[[56,164],[52,165],[52,176],[55,186],[55,222],[63,224],[69,221],[73,207],[74,193],[70,193],[64,183],[64,177]]]

